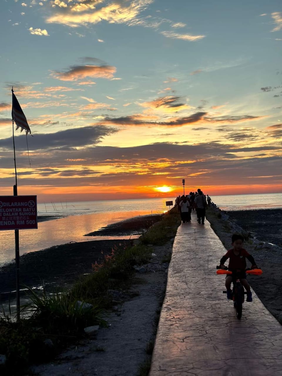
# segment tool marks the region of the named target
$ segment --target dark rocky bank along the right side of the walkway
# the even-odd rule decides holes
[[[255,222],[256,211],[253,211],[253,216],[253,222]],[[208,208],[206,218],[227,250],[232,248],[231,236],[233,233],[243,235],[245,238],[244,248],[255,258],[257,265],[263,271],[261,276],[248,276],[249,283],[268,311],[282,323],[282,265],[280,262],[282,247],[271,244],[267,232],[265,232],[264,241],[261,240],[264,233],[263,227],[261,230],[256,230],[260,233],[260,240],[258,240],[249,231],[251,226],[248,226],[247,230],[243,229],[238,225],[236,219],[232,218],[232,215],[226,214],[218,208]],[[274,220],[273,223],[268,223],[268,226],[277,226],[277,232],[280,232],[280,226],[276,222]],[[252,223],[252,218],[249,218],[249,223]]]

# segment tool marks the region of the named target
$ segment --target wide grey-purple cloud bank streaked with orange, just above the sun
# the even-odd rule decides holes
[[[35,135],[33,139],[29,137],[29,143],[31,139],[34,141],[33,149],[37,139],[38,152],[30,148],[30,170],[26,151],[20,153],[17,149],[21,184],[34,185],[36,179],[36,185],[54,187],[129,186],[144,185],[144,181],[146,185],[158,182],[175,185],[179,175],[185,176],[191,186],[261,183],[259,176],[266,175],[273,176],[267,180],[269,183],[280,179],[282,158],[278,155],[281,150],[278,146],[234,147],[233,143],[223,145],[214,142],[193,145],[154,143],[136,147],[87,146],[112,132],[111,129],[100,128],[86,127],[52,135]],[[76,140],[70,142],[72,131]],[[25,137],[21,138],[23,150],[26,150]],[[4,146],[9,145],[9,152],[2,150],[1,166],[12,169],[11,138],[4,141]],[[260,155],[242,158],[237,155],[242,152]],[[273,156],[264,155],[264,152],[271,152]],[[12,172],[10,174],[11,177],[2,179],[3,186],[12,184],[14,177]],[[249,176],[255,178],[251,181]]]

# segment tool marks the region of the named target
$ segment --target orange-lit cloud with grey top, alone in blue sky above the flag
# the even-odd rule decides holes
[[[66,72],[53,72],[51,76],[61,81],[77,81],[86,77],[111,79],[116,71],[111,65],[76,65]]]

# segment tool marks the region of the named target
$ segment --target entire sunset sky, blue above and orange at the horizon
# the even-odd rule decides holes
[[[282,192],[279,0],[2,0],[0,195]],[[4,37],[5,36],[5,37]],[[167,187],[167,188],[162,188]]]

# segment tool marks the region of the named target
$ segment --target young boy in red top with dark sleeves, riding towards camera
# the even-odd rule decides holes
[[[256,263],[252,255],[250,255],[246,249],[243,248],[244,238],[240,234],[233,234],[232,238],[232,249],[229,249],[227,253],[220,259],[220,267],[224,268],[224,262],[229,258],[229,264],[228,264],[228,270],[230,271],[236,271],[241,270],[240,273],[240,280],[241,284],[244,286],[244,288],[247,291],[247,302],[252,302],[252,292],[250,289],[250,285],[247,282],[247,276],[246,276],[246,258],[252,263],[252,269],[256,269]],[[230,299],[232,296],[231,293],[231,282],[232,282],[232,276],[228,275],[225,279],[225,287],[227,290],[227,299]]]

